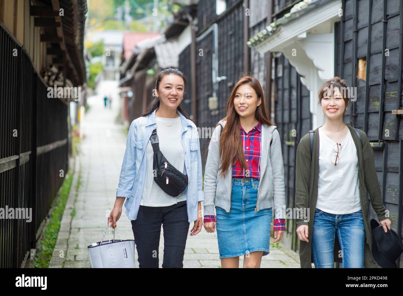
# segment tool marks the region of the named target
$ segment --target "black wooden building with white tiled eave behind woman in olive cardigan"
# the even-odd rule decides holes
[[[403,238],[403,4],[397,0],[317,0],[309,5],[298,2],[274,1],[272,25],[252,35],[248,42],[261,54],[272,52],[275,56],[274,109],[279,130],[283,126],[280,135],[289,180],[287,207],[295,194],[295,148],[307,130],[324,123],[318,109],[319,87],[324,79],[339,76],[347,86],[356,87],[345,123],[367,133],[392,229]],[[318,15],[322,19],[313,19]],[[295,126],[298,116],[301,120],[296,120],[300,122]],[[293,139],[289,135],[294,129],[297,132]],[[370,218],[376,219],[371,205]],[[287,231],[290,230],[288,224]],[[295,235],[290,243],[294,250],[298,249]]]

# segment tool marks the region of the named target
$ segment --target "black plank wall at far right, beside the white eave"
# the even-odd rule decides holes
[[[335,74],[357,87],[345,123],[364,130],[373,142],[382,198],[392,229],[402,233],[403,122],[401,0],[343,0],[344,16],[335,27]],[[365,77],[358,61],[366,60]],[[371,218],[376,215],[370,207]],[[403,255],[401,257],[403,259]]]

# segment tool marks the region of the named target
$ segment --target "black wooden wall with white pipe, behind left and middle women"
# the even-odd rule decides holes
[[[226,103],[233,86],[243,71],[243,18],[245,14],[242,1],[227,3],[227,11],[223,16],[216,15],[214,0],[200,1],[197,7],[198,34],[201,35],[213,23],[218,25],[218,76],[226,76],[218,84],[218,115],[212,115],[208,108],[208,98],[213,94],[212,52],[213,33],[196,42],[196,94],[197,122],[200,128],[214,128],[217,122],[226,115]],[[209,25],[206,27],[206,25]],[[202,51],[201,51],[202,50]],[[182,57],[182,55],[181,55]],[[180,62],[182,63],[182,62]],[[190,91],[190,89],[189,89]],[[210,143],[208,135],[202,135],[200,145],[202,161],[205,164],[204,151]],[[210,135],[211,136],[211,135]]]

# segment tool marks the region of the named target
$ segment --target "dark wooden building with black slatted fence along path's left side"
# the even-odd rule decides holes
[[[71,97],[48,87],[86,81],[86,10],[85,0],[0,0],[0,268],[24,267],[68,173]]]

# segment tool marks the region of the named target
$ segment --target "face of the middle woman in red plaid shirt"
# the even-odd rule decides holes
[[[249,84],[239,85],[234,97],[235,111],[241,117],[255,116],[256,108],[262,103],[256,91]]]

